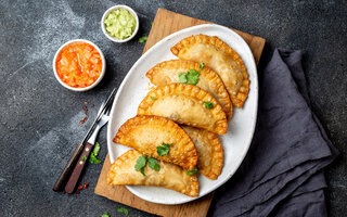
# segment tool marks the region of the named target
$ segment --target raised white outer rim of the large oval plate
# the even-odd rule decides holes
[[[132,73],[136,73],[136,71],[132,71],[132,68],[137,68],[138,65],[142,62],[142,60],[145,59],[146,55],[149,55],[152,50],[156,49],[157,47],[160,47],[163,43],[165,43],[166,41],[170,40],[171,38],[180,35],[180,34],[182,34],[182,33],[185,33],[185,31],[189,31],[189,30],[194,30],[195,28],[203,28],[203,27],[209,27],[209,26],[211,26],[211,27],[217,26],[217,27],[219,27],[219,28],[223,28],[223,29],[232,33],[233,37],[237,38],[237,40],[241,40],[241,41],[244,43],[244,44],[243,44],[243,46],[244,46],[244,49],[246,49],[247,52],[250,53],[252,56],[253,56],[253,53],[252,53],[248,44],[244,41],[244,39],[243,39],[239,34],[236,34],[236,33],[233,31],[232,29],[230,29],[230,28],[228,28],[228,27],[224,27],[224,26],[220,26],[220,25],[217,25],[217,24],[202,24],[202,25],[197,25],[197,26],[193,26],[193,27],[189,27],[189,28],[184,28],[184,29],[182,29],[182,30],[176,31],[176,33],[174,33],[174,34],[165,37],[164,39],[162,39],[160,41],[158,41],[157,43],[155,43],[152,48],[150,48],[150,49],[133,64],[133,66],[130,68],[129,72],[131,72],[131,73],[128,73],[127,76],[124,78],[123,82],[120,84],[120,86],[119,86],[119,88],[118,88],[118,91],[117,91],[117,94],[116,94],[116,97],[115,97],[115,100],[114,100],[114,102],[113,102],[113,106],[112,106],[112,110],[111,110],[111,120],[113,119],[113,115],[116,114],[116,113],[114,112],[114,108],[115,108],[116,102],[118,101],[118,98],[120,97],[120,92],[121,92],[125,84],[128,81],[130,75],[131,75]],[[203,33],[202,33],[202,34],[203,34]],[[168,52],[170,52],[170,51],[168,51]],[[189,196],[187,196],[187,199],[182,199],[180,202],[174,202],[174,203],[171,203],[171,202],[169,202],[169,203],[168,203],[168,202],[160,202],[160,201],[155,201],[155,202],[153,202],[152,200],[150,200],[150,197],[146,197],[146,195],[138,194],[134,190],[132,190],[131,188],[129,188],[129,186],[126,186],[126,188],[127,188],[131,193],[136,194],[137,196],[139,196],[139,197],[141,197],[141,199],[143,199],[143,200],[145,200],[145,201],[150,201],[150,202],[152,202],[152,203],[169,204],[169,205],[183,204],[183,203],[188,203],[188,202],[197,200],[197,199],[200,199],[200,197],[202,197],[202,196],[204,196],[204,195],[206,195],[206,194],[215,191],[215,190],[218,189],[220,186],[222,186],[223,183],[226,183],[226,182],[235,174],[235,171],[237,170],[237,168],[239,168],[240,165],[242,164],[244,157],[246,156],[246,154],[247,154],[247,152],[248,152],[248,150],[249,150],[250,142],[252,142],[252,139],[253,139],[253,136],[254,136],[255,127],[256,127],[256,122],[257,122],[257,111],[258,111],[258,76],[257,76],[257,66],[256,66],[254,56],[253,56],[252,60],[248,60],[248,61],[249,61],[249,64],[252,64],[252,66],[255,68],[254,80],[252,80],[252,82],[255,84],[255,86],[254,86],[254,91],[255,91],[255,93],[256,93],[256,94],[255,94],[255,99],[254,99],[254,100],[255,100],[255,107],[254,107],[253,114],[252,114],[252,115],[255,117],[255,119],[254,119],[252,129],[249,130],[249,132],[250,132],[252,136],[248,138],[248,141],[247,141],[247,143],[245,144],[245,145],[246,145],[245,152],[244,152],[244,153],[242,154],[242,156],[241,156],[242,161],[240,161],[240,162],[237,163],[237,165],[236,165],[236,166],[234,167],[234,169],[228,175],[228,177],[227,177],[224,180],[220,181],[220,182],[219,182],[217,186],[215,186],[214,188],[209,189],[209,190],[208,190],[207,192],[205,192],[204,194],[200,194],[200,195],[196,196],[196,197],[189,197]],[[142,72],[142,73],[143,73],[143,72]],[[111,123],[111,122],[110,122],[110,123]],[[114,133],[114,132],[112,131],[112,126],[111,126],[111,124],[108,124],[108,126],[107,126],[107,149],[108,149],[108,154],[110,154],[110,161],[111,161],[111,163],[113,163],[113,162],[116,159],[115,156],[113,155],[113,152],[110,151],[110,150],[112,150],[112,145],[114,145],[114,143],[113,143],[113,141],[112,141],[113,136],[114,136],[113,133]]]

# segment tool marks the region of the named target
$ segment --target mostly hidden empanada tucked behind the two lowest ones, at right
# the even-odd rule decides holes
[[[223,167],[223,148],[216,133],[182,126],[183,130],[192,138],[198,154],[198,171],[209,179],[217,179]]]

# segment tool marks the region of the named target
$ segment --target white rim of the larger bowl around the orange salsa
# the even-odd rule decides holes
[[[99,78],[95,80],[95,82],[93,82],[90,86],[85,87],[85,88],[74,88],[74,87],[70,87],[70,86],[66,85],[65,82],[63,82],[63,80],[61,80],[61,78],[59,77],[59,75],[56,73],[56,68],[55,68],[56,58],[57,58],[59,53],[62,51],[62,49],[65,46],[74,43],[74,42],[86,42],[86,43],[91,44],[92,47],[94,47],[98,50],[98,52],[100,53],[100,56],[101,56],[101,61],[102,61],[102,69],[101,69]],[[57,51],[56,51],[56,53],[54,55],[54,59],[53,59],[53,71],[54,71],[54,76],[57,79],[57,81],[62,86],[64,86],[65,88],[67,88],[69,90],[74,90],[74,91],[87,91],[87,90],[90,90],[90,89],[94,88],[102,80],[102,78],[104,77],[105,71],[106,71],[106,60],[105,60],[104,54],[102,53],[102,51],[100,50],[100,48],[95,43],[93,43],[93,42],[91,42],[89,40],[85,40],[85,39],[74,39],[74,40],[67,41],[66,43],[64,43],[63,46],[61,46],[57,49]]]

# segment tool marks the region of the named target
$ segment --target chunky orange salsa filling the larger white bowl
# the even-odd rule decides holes
[[[102,54],[92,44],[76,41],[64,46],[55,60],[55,72],[65,85],[87,88],[103,73]]]

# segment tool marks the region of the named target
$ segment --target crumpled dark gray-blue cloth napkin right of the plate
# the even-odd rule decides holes
[[[253,142],[217,190],[209,215],[326,216],[322,168],[338,152],[310,110],[301,58],[300,51],[275,49],[259,73]]]

